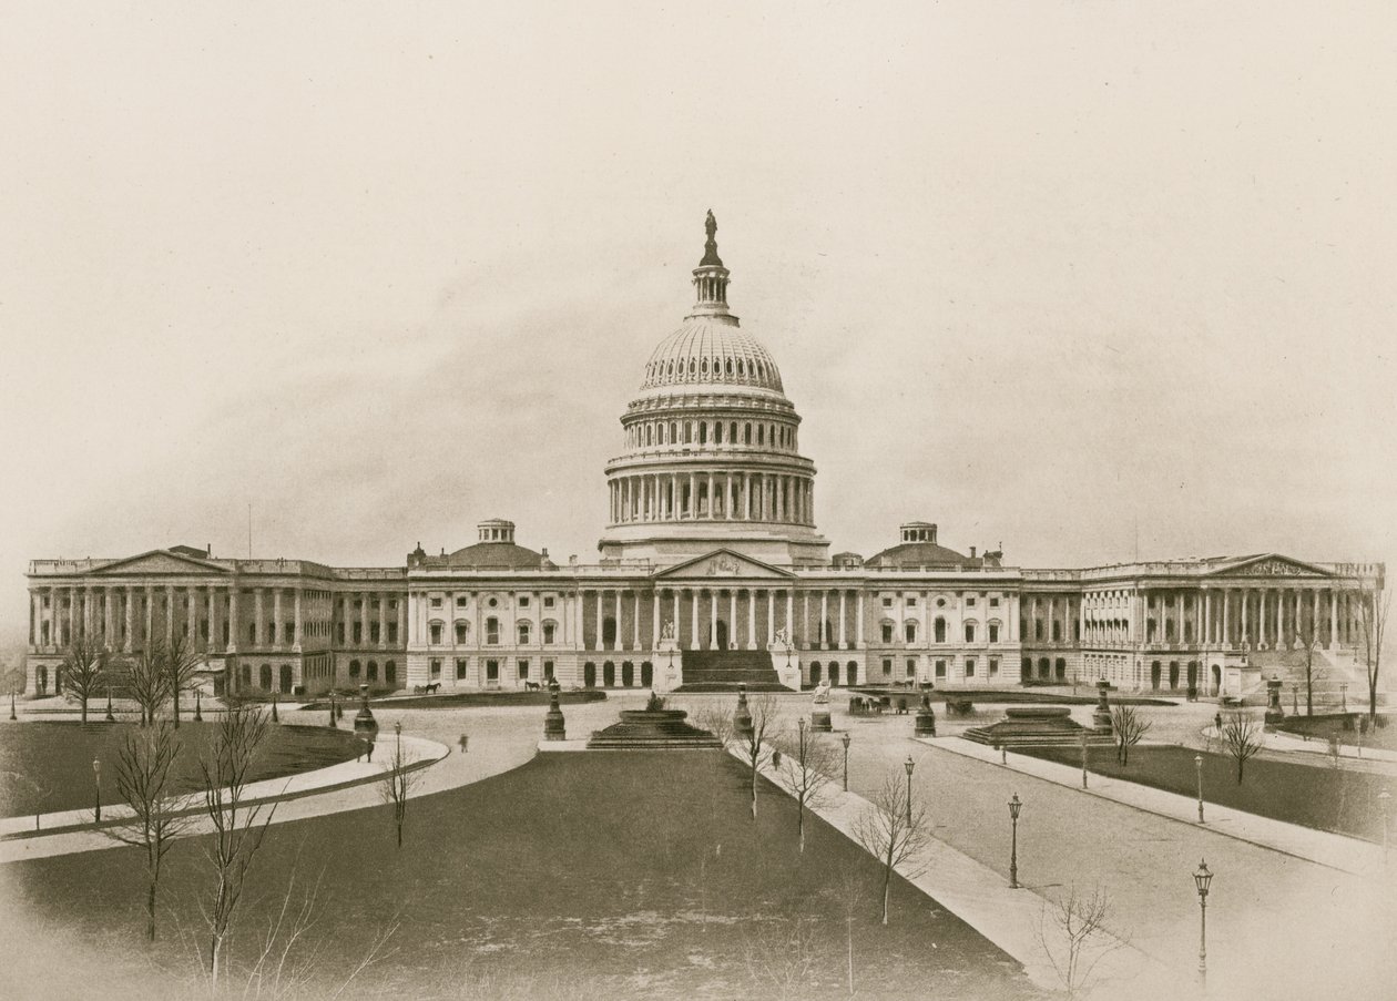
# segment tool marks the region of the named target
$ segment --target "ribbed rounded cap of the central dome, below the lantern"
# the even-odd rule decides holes
[[[750,385],[782,392],[781,371],[770,352],[729,317],[686,320],[655,348],[640,388],[694,384]]]

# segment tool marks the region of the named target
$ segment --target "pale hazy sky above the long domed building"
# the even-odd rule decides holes
[[[708,208],[837,549],[1394,558],[1394,67],[1386,0],[7,3],[0,639],[249,503],[595,558]]]

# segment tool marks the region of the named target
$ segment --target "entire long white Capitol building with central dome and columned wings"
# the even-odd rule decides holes
[[[715,230],[710,214],[697,300],[620,417],[595,563],[556,564],[504,519],[393,567],[190,546],[35,560],[28,691],[61,684],[74,637],[131,653],[176,632],[205,653],[208,688],[250,694],[1104,677],[1215,695],[1294,672],[1309,648],[1331,681],[1361,681],[1363,603],[1382,564],[1252,553],[1031,570],[947,547],[919,521],[880,553],[831,553],[800,416],[728,307]]]

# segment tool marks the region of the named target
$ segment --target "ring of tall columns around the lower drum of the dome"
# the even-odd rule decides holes
[[[610,480],[613,525],[648,521],[814,524],[814,484],[777,473],[641,473]]]

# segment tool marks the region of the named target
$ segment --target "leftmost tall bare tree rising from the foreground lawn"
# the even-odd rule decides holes
[[[116,792],[131,808],[131,817],[102,828],[108,838],[134,845],[144,853],[145,937],[152,942],[161,863],[189,825],[189,817],[179,815],[186,797],[176,793],[170,775],[179,751],[179,737],[163,720],[149,729],[127,732],[116,758]]]

